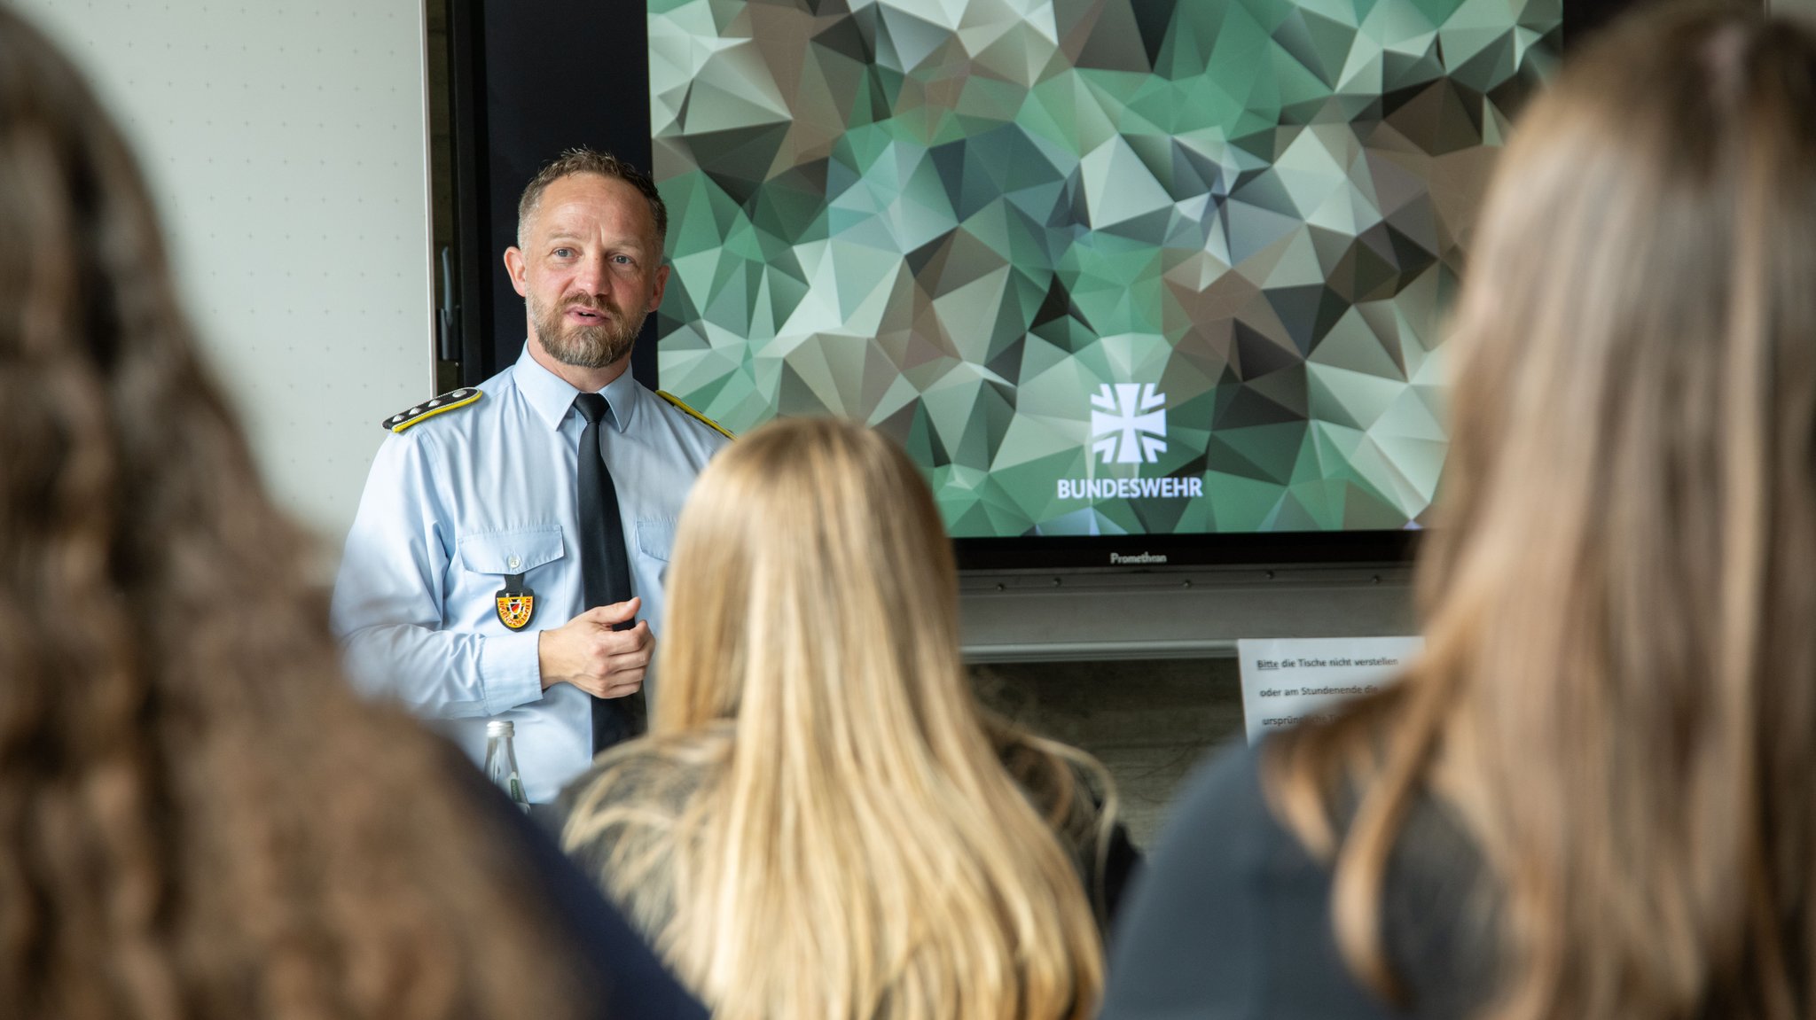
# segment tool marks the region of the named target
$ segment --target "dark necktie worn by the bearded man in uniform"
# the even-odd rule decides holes
[[[625,521],[617,514],[617,486],[605,470],[605,450],[599,445],[605,421],[605,397],[579,394],[574,410],[587,419],[579,434],[579,575],[585,608],[623,603],[630,590],[630,557],[625,554]],[[636,621],[625,621],[612,630],[630,630]],[[648,728],[648,710],[643,691],[592,699],[592,750],[601,751],[619,740],[628,740]]]

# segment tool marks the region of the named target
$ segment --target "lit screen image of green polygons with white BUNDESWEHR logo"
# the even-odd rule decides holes
[[[1426,523],[1562,5],[650,0],[646,42],[661,387],[875,425],[961,550],[1140,564]]]

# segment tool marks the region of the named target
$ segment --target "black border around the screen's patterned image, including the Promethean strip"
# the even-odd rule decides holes
[[[1580,40],[1631,5],[1636,0],[1569,0],[1564,36]],[[648,13],[643,4],[588,0],[449,0],[449,47],[459,379],[478,385],[523,347],[521,299],[499,254],[514,240],[516,196],[536,165],[574,145],[650,165]],[[572,102],[572,83],[550,80],[552,67],[585,67],[601,94],[636,102]],[[650,388],[659,383],[656,347],[652,319],[632,356],[634,376]],[[955,537],[953,548],[966,572],[1404,563],[1418,530]]]

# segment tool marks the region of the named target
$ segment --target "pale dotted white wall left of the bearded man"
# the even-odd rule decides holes
[[[434,379],[421,0],[11,0],[138,149],[278,501],[331,557]]]

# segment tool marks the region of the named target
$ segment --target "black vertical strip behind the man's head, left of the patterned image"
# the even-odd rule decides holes
[[[518,196],[538,167],[576,145],[650,167],[650,58],[643,4],[452,2],[454,25],[478,29],[465,54],[454,40],[454,87],[476,114],[456,113],[461,169],[478,171],[459,230],[463,290],[481,298],[463,301],[472,310],[463,316],[465,339],[481,348],[461,367],[461,381],[472,385],[523,350],[523,299],[510,289],[503,252],[516,243]],[[656,316],[630,368],[656,387]]]

